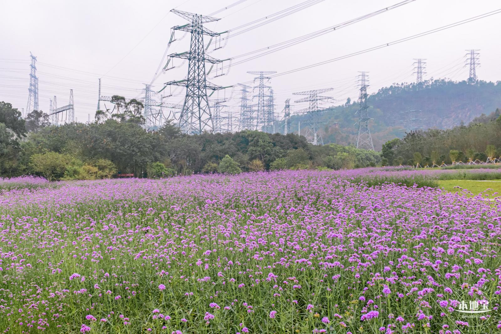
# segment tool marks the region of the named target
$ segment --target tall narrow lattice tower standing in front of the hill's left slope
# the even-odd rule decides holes
[[[374,151],[374,144],[372,143],[371,131],[369,129],[369,106],[367,106],[367,87],[369,87],[369,76],[368,72],[360,72],[358,76],[360,95],[358,97],[358,102],[360,107],[357,110],[358,113],[358,133],[357,133],[357,148],[362,148],[366,150]]]

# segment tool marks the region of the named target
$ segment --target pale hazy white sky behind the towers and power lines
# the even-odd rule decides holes
[[[208,23],[215,32],[232,30],[224,48],[211,57],[226,59],[265,48],[295,37],[349,21],[399,3],[401,0],[325,0],[298,13],[252,31],[232,36],[243,24],[300,4],[304,0],[247,0],[217,15],[218,22]],[[186,21],[169,11],[208,15],[236,0],[86,0],[86,1],[2,1],[0,2],[0,100],[14,107],[26,108],[28,100],[30,51],[38,58],[40,109],[49,111],[49,99],[57,96],[58,106],[68,104],[73,89],[78,121],[94,117],[98,99],[98,78],[102,78],[102,95],[140,98],[144,83],[153,79],[167,47],[171,27]],[[230,86],[253,79],[247,71],[283,73],[310,64],[351,54],[367,48],[406,38],[434,28],[471,18],[501,8],[499,0],[415,0],[349,27],[333,31],[245,62],[231,66],[228,75],[211,79],[214,84]],[[312,69],[273,78],[269,85],[275,91],[277,111],[283,109],[293,92],[334,88],[330,94],[337,103],[347,97],[357,98],[358,71],[368,71],[370,92],[394,82],[415,81],[414,58],[426,58],[424,79],[451,78],[464,80],[465,49],[480,49],[481,80],[501,80],[501,14],[467,23],[442,32],[398,45],[351,57]],[[176,32],[176,37],[182,34]],[[208,41],[208,39],[207,39]],[[187,51],[189,34],[171,44],[167,54]],[[209,47],[209,50],[211,48]],[[167,58],[161,64],[165,64]],[[244,58],[235,59],[241,60]],[[175,60],[174,65],[180,65]],[[161,74],[154,82],[160,90],[163,83],[181,80],[187,74],[187,63]],[[213,73],[212,73],[213,74]],[[211,75],[212,75],[211,74]],[[168,89],[164,91],[166,93]],[[232,97],[227,105],[238,110],[239,92],[235,88],[212,95]],[[164,102],[180,103],[184,91]],[[257,92],[256,92],[257,93]],[[218,95],[219,94],[219,95]],[[165,94],[166,95],[166,94]],[[110,104],[107,104],[110,108]],[[305,106],[292,104],[293,110]]]

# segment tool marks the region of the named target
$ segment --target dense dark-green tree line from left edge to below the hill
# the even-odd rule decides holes
[[[277,169],[376,166],[379,153],[353,146],[314,146],[303,136],[260,131],[186,135],[170,121],[144,129],[143,105],[113,97],[113,111],[97,111],[90,124],[51,125],[42,111],[26,119],[0,102],[0,175],[97,179],[119,174],[166,177]]]

